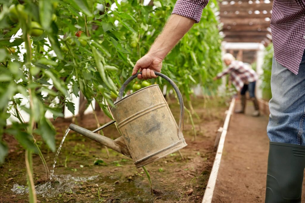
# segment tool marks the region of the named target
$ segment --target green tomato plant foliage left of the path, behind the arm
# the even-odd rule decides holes
[[[52,151],[56,149],[56,132],[45,118],[46,111],[51,111],[54,119],[63,117],[66,105],[74,114],[72,94],[79,96],[81,91],[89,103],[95,99],[110,117],[105,105],[106,101],[112,104],[110,93],[117,94],[122,82],[131,76],[133,65],[161,32],[175,1],[144,6],[138,0],[120,4],[117,0],[25,0],[24,9],[18,10],[18,23],[9,18],[9,7],[19,2],[0,3],[0,138],[8,133],[25,149],[39,153],[34,142],[38,135]],[[97,9],[98,4],[104,11]],[[110,9],[111,5],[117,8]],[[200,23],[163,63],[162,72],[177,82],[188,100],[193,86],[213,89],[218,84],[212,80],[222,69],[221,37],[214,15],[217,9],[216,0],[211,0]],[[30,36],[32,21],[41,24],[42,35]],[[20,29],[23,35],[11,39]],[[84,31],[81,39],[87,42],[85,46],[75,36],[79,30]],[[16,52],[10,53],[10,47]],[[160,78],[153,82],[166,84]],[[29,106],[20,105],[19,94],[26,96]],[[29,114],[28,123],[22,122],[18,109]],[[13,122],[5,130],[6,120],[12,116],[23,124]],[[6,154],[7,147],[1,141],[0,162]]]

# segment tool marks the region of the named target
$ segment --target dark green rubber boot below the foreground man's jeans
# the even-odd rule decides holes
[[[265,203],[301,203],[305,146],[270,142]]]

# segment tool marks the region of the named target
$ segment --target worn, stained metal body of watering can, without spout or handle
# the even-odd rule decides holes
[[[137,167],[187,145],[182,133],[178,136],[178,125],[158,85],[124,97],[114,106],[111,113]]]

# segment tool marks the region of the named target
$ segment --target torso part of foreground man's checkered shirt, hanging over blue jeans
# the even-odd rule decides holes
[[[305,49],[305,0],[274,0],[270,26],[276,61],[298,74]]]

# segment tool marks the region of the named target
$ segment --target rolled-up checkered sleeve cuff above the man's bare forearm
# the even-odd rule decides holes
[[[194,19],[196,23],[199,23],[202,9],[206,7],[208,3],[209,0],[178,0],[172,14],[185,16]]]

